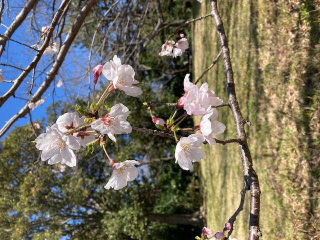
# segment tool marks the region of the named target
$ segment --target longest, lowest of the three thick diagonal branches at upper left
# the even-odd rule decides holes
[[[73,24],[70,27],[70,30],[68,31],[68,34],[60,48],[60,51],[56,57],[56,61],[54,62],[53,66],[47,73],[47,76],[45,77],[43,83],[41,86],[37,89],[37,91],[34,93],[34,95],[31,98],[32,102],[35,102],[39,100],[43,94],[43,92],[49,87],[50,83],[53,81],[55,75],[57,74],[66,53],[69,50],[69,47],[71,43],[73,42],[76,34],[78,33],[85,17],[89,13],[89,10],[92,8],[92,6],[96,3],[97,0],[88,0],[86,5],[82,7],[82,9],[79,11],[78,15],[76,16]],[[9,129],[9,127],[19,118],[25,116],[27,112],[30,111],[30,108],[28,107],[28,104],[25,104],[14,116],[12,116],[0,129],[0,137]]]

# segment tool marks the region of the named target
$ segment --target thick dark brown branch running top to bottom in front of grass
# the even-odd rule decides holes
[[[223,23],[217,9],[217,0],[211,0],[212,15],[216,24],[216,30],[221,44],[223,67],[226,79],[226,89],[228,93],[228,102],[232,111],[235,124],[236,136],[239,140],[239,150],[242,160],[244,180],[250,188],[250,219],[249,219],[249,240],[258,240],[262,235],[259,228],[260,215],[260,188],[258,176],[252,168],[252,158],[246,140],[244,130],[245,120],[241,114],[239,104],[235,95],[235,84],[233,81],[233,71],[231,67],[230,52],[227,38],[224,32]]]

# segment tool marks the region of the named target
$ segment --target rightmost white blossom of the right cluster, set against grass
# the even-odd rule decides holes
[[[204,139],[211,145],[215,145],[215,140],[212,135],[218,135],[225,130],[225,125],[216,120],[218,114],[217,109],[212,108],[202,116],[200,121],[200,130]]]

